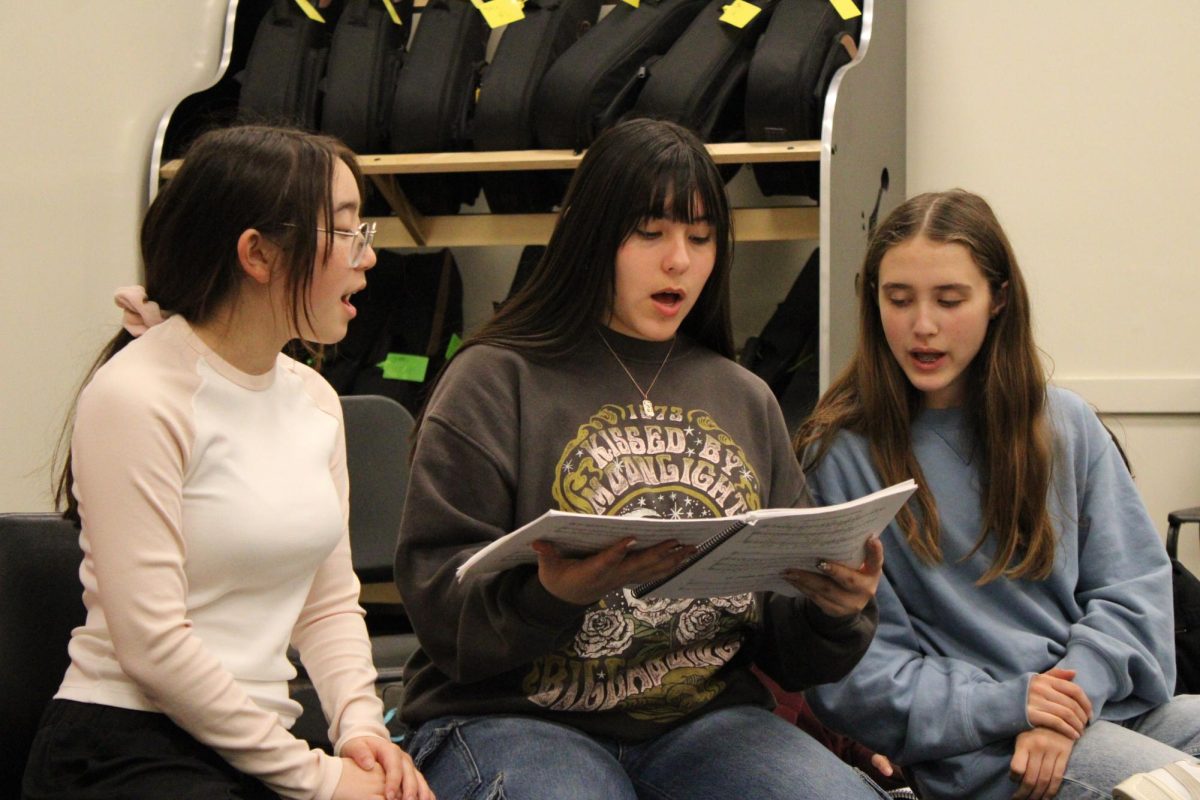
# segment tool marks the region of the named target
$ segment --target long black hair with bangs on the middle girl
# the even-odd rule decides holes
[[[725,182],[703,143],[674,122],[634,119],[600,134],[580,162],[546,253],[463,347],[488,343],[553,357],[569,353],[612,307],[617,251],[647,219],[708,222],[713,272],[680,330],[733,357],[733,227]]]

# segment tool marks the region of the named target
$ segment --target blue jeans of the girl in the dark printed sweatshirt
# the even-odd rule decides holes
[[[439,800],[887,796],[796,726],[745,705],[634,744],[535,717],[442,717],[408,750]]]

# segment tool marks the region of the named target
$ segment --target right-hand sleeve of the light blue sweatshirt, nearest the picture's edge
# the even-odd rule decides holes
[[[1076,524],[1082,614],[1058,666],[1076,670],[1094,718],[1112,704],[1108,716],[1120,720],[1174,693],[1171,565],[1109,432],[1078,398],[1067,413],[1078,507],[1061,516]]]

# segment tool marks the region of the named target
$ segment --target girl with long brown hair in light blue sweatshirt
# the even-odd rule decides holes
[[[797,449],[820,504],[920,488],[883,535],[875,640],[814,709],[926,799],[1111,798],[1195,756],[1162,541],[1109,432],[1046,385],[992,210],[912,198],[863,287],[858,350]]]

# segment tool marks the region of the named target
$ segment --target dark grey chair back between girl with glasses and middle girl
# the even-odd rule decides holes
[[[362,583],[391,583],[408,488],[413,415],[380,395],[342,397],[350,474],[350,549]]]

